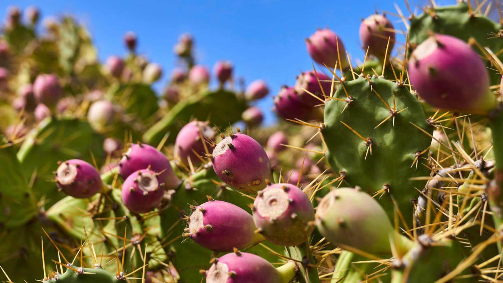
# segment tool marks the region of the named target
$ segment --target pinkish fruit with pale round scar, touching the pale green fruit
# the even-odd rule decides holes
[[[268,241],[296,246],[306,242],[314,230],[314,208],[295,185],[272,184],[258,193],[253,220]]]

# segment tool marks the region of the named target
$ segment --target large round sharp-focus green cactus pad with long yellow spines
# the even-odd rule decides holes
[[[360,186],[372,194],[388,184],[389,192],[406,215],[405,219],[410,219],[407,218],[412,213],[410,199],[417,196],[414,187],[422,188],[424,182],[409,178],[430,175],[425,166],[419,164],[416,169],[415,165],[412,168],[411,165],[416,153],[425,151],[431,143],[431,138],[411,123],[429,133],[433,132],[433,127],[427,124],[421,104],[408,87],[379,78],[369,80],[372,90],[377,91],[391,109],[393,96],[396,111],[407,109],[395,116],[394,126],[393,118],[390,118],[376,128],[390,116],[390,110],[375,91],[371,91],[365,78],[344,83],[344,88],[340,86],[334,97],[346,99],[346,90],[353,102],[347,107],[345,101],[339,100],[330,100],[325,104],[322,134],[327,145],[327,161],[334,170],[346,173],[345,181],[349,185]],[[372,139],[372,155],[370,151],[367,153],[366,142],[343,122],[363,138]],[[420,159],[419,162],[424,161]],[[383,191],[386,195],[378,200],[388,217],[393,219],[394,205],[386,190]]]

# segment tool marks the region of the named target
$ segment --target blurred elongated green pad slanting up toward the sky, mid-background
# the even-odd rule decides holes
[[[201,121],[209,119],[210,125],[227,127],[239,121],[241,113],[246,108],[246,102],[239,99],[233,92],[223,89],[209,91],[175,105],[159,122],[143,134],[143,141],[151,145],[158,144],[169,132],[167,142],[173,143],[178,131],[190,122],[191,118]]]

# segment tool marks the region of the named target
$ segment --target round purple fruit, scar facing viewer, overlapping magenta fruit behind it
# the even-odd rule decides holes
[[[129,175],[122,184],[122,202],[134,213],[147,213],[159,205],[164,183],[159,174],[141,169]]]

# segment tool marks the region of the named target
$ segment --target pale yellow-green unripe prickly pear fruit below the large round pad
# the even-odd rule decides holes
[[[390,254],[393,227],[379,203],[353,188],[331,190],[316,208],[316,227],[333,245],[371,254]],[[395,239],[396,240],[396,239]],[[410,244],[405,238],[400,243]]]

